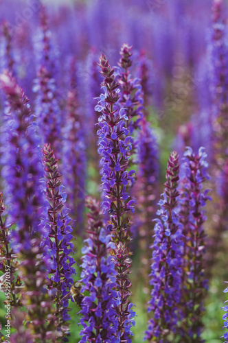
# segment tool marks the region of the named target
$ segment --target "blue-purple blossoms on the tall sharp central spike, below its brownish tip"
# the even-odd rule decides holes
[[[104,211],[109,211],[112,214],[112,224],[109,225],[110,230],[124,228],[126,223],[117,222],[115,216],[119,216],[117,211],[120,207],[124,212],[131,210],[134,212],[134,200],[128,200],[129,195],[126,191],[128,182],[134,182],[135,170],[126,171],[128,166],[128,151],[132,150],[133,138],[128,135],[126,121],[128,117],[125,113],[125,108],[115,106],[119,99],[119,84],[115,81],[113,75],[114,69],[111,69],[109,61],[102,55],[100,57],[100,67],[104,82],[102,88],[104,94],[98,97],[98,105],[95,110],[101,113],[98,119],[98,153],[101,158],[102,165],[102,190],[104,200],[102,208]],[[114,107],[115,106],[115,107]],[[115,205],[114,197],[117,198]]]

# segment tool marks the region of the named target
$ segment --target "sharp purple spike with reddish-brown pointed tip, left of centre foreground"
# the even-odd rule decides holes
[[[58,329],[64,334],[67,331],[67,321],[70,319],[69,299],[66,295],[69,294],[69,289],[73,285],[72,274],[76,271],[72,267],[75,261],[70,256],[73,252],[71,218],[67,214],[67,209],[63,209],[66,196],[62,190],[58,160],[49,144],[43,147],[43,165],[46,180],[45,193],[49,202],[45,248],[51,259],[49,273],[52,274],[48,287],[55,294]]]

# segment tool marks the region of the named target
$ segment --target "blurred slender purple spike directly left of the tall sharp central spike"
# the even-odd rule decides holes
[[[67,192],[67,205],[75,221],[77,233],[83,228],[84,193],[86,178],[86,145],[82,127],[82,115],[78,105],[76,86],[76,61],[71,61],[71,84],[67,93],[66,124],[63,129],[62,178]]]

